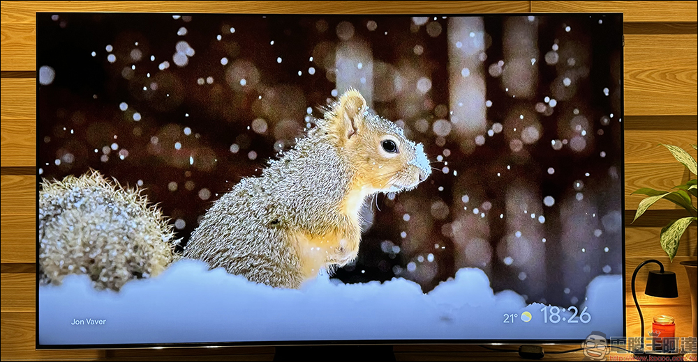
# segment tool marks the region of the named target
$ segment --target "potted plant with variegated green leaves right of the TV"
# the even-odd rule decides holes
[[[632,221],[634,222],[635,220],[637,220],[637,218],[644,214],[648,207],[650,207],[651,205],[653,205],[661,199],[669,200],[672,203],[675,203],[676,205],[679,205],[683,207],[686,211],[688,211],[688,216],[669,221],[667,226],[664,226],[664,228],[662,228],[662,232],[660,233],[660,244],[662,245],[662,249],[664,249],[667,255],[669,255],[669,259],[673,261],[674,256],[676,256],[676,251],[678,250],[678,242],[681,239],[681,236],[683,235],[685,230],[688,229],[688,226],[696,221],[698,216],[698,211],[696,210],[696,207],[693,206],[691,199],[691,196],[698,198],[698,190],[696,189],[696,174],[698,173],[698,166],[696,164],[696,160],[691,155],[689,155],[688,152],[683,150],[683,148],[676,147],[675,145],[664,145],[664,147],[669,149],[671,155],[674,155],[676,161],[681,162],[683,166],[688,168],[688,171],[693,174],[693,178],[688,180],[688,182],[686,182],[685,184],[680,184],[674,187],[676,191],[658,191],[647,187],[634,191],[633,194],[641,194],[646,195],[648,197],[640,201],[640,204],[637,207],[637,212],[635,212],[635,218]],[[692,147],[694,150],[698,150],[696,145],[692,145]],[[697,335],[697,261],[689,260],[681,262],[681,265],[683,265],[686,268],[686,273],[688,274],[688,283],[690,284],[691,289],[693,337],[695,338]]]

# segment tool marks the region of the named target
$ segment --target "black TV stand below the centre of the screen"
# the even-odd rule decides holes
[[[276,347],[274,361],[395,361],[392,345]]]

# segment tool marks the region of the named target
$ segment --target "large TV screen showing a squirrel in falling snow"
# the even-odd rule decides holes
[[[622,15],[36,24],[38,347],[623,336]]]

